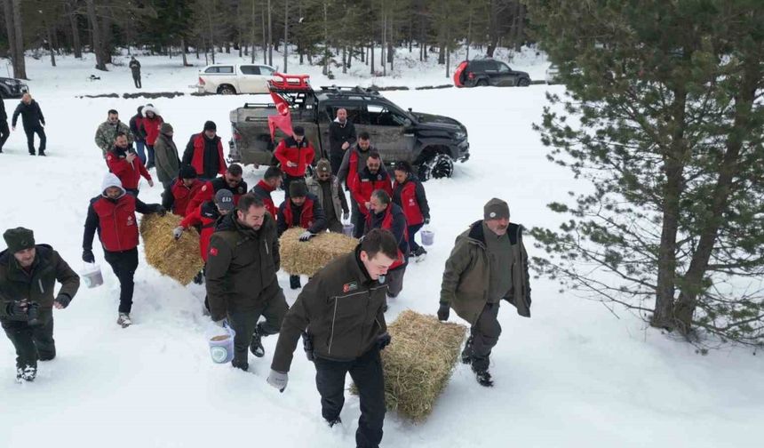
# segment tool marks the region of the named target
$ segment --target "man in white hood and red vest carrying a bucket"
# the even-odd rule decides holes
[[[135,212],[164,215],[160,204],[144,204],[128,195],[113,173],[107,173],[101,184],[101,194],[91,199],[83,236],[83,261],[94,263],[93,236],[98,231],[104,259],[119,279],[119,318],[116,323],[126,328],[132,324],[133,275],[138,268],[138,220]]]

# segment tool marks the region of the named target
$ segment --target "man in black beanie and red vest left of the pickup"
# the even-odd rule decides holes
[[[183,164],[191,165],[202,181],[212,180],[226,174],[226,159],[223,157],[223,143],[218,135],[215,122],[204,123],[203,132],[195,133],[188,140],[183,151]]]

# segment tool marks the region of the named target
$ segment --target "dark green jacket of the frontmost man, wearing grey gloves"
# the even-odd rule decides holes
[[[313,340],[315,356],[338,361],[362,356],[387,332],[387,285],[370,279],[359,252],[332,260],[299,293],[284,317],[273,370],[289,372],[301,332]]]

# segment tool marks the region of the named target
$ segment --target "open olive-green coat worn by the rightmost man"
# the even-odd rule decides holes
[[[528,253],[522,244],[522,226],[510,224],[506,233],[512,244],[513,263],[506,270],[506,275],[512,276],[512,288],[504,300],[512,303],[520,316],[530,317]],[[488,301],[489,260],[479,220],[457,236],[443,271],[441,303],[449,303],[459,317],[473,325]]]

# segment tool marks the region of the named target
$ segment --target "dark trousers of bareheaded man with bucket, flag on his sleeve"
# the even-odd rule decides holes
[[[274,278],[257,300],[258,307],[252,309],[235,310],[228,309],[228,324],[234,329],[234,361],[237,363],[247,362],[247,350],[252,343],[252,335],[255,329],[260,335],[267,336],[279,332],[286,312],[289,311],[284,292]],[[260,316],[266,321],[258,324]]]

